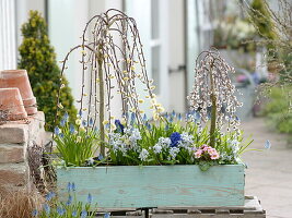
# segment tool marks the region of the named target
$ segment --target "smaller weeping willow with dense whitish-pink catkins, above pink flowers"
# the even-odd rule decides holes
[[[223,119],[232,121],[236,126],[235,111],[242,106],[234,95],[235,86],[232,85],[229,73],[235,73],[217,50],[202,51],[196,60],[195,82],[188,96],[190,109],[199,111],[201,120],[210,120],[210,146],[215,145],[215,131]],[[211,109],[211,114],[209,110]]]

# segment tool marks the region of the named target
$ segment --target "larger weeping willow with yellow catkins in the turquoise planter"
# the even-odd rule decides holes
[[[62,61],[61,75],[68,68],[70,55],[75,50],[81,50],[82,64],[79,109],[85,111],[87,123],[100,128],[101,142],[105,142],[105,123],[109,128],[113,126],[110,101],[114,92],[120,95],[121,114],[125,120],[128,120],[127,114],[130,112],[135,114],[137,122],[141,123],[143,111],[139,109],[139,102],[142,100],[137,93],[137,83],[144,85],[150,99],[154,99],[155,95],[153,81],[150,81],[147,74],[136,21],[115,9],[93,16],[83,29],[82,43],[73,47]],[[60,83],[59,96],[63,86],[65,84]],[[62,109],[59,98],[57,105]],[[153,104],[152,108],[154,117],[159,117],[162,108],[156,104]],[[58,116],[60,111],[56,118]],[[101,146],[101,153],[105,154],[104,145]]]

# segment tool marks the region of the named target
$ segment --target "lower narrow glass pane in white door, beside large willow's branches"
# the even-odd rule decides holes
[[[151,72],[154,80],[153,85],[156,87],[154,89],[155,94],[160,93],[160,46],[154,46],[151,48]]]

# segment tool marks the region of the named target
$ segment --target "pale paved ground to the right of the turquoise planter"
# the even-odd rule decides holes
[[[292,218],[292,145],[287,136],[268,129],[261,118],[244,122],[245,135],[253,135],[253,148],[264,148],[267,140],[271,148],[244,154],[246,195],[257,196],[269,218]]]

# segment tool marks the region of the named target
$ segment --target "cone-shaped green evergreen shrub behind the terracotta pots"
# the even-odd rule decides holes
[[[57,111],[57,94],[60,87],[60,69],[56,61],[56,53],[47,33],[47,24],[37,11],[30,12],[27,23],[22,26],[23,41],[19,48],[19,69],[25,69],[28,73],[34,95],[37,99],[38,110],[46,114],[46,130],[52,131]],[[60,101],[71,118],[75,117],[73,97],[68,82],[62,77],[65,87]],[[60,116],[59,116],[60,117]]]

